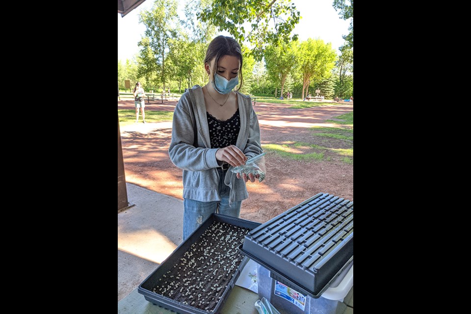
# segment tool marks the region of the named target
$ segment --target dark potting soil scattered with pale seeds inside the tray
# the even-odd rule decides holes
[[[238,247],[249,229],[213,222],[162,278],[153,291],[212,312],[231,282],[243,256]]]

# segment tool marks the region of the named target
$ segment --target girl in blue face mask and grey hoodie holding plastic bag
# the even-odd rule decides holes
[[[242,85],[242,52],[231,37],[218,36],[204,60],[209,82],[183,95],[173,114],[169,155],[183,169],[183,240],[213,212],[238,217],[248,197],[245,183],[256,178],[232,173],[262,154],[260,128]],[[235,90],[234,87],[240,85]],[[264,166],[262,165],[264,171]]]

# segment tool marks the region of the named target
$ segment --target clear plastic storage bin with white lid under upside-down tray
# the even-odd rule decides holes
[[[265,297],[276,309],[282,309],[289,314],[343,314],[346,309],[343,301],[345,297],[350,298],[347,294],[352,287],[353,261],[319,298],[312,298],[283,285],[270,277],[268,269],[260,264],[258,266],[259,297]]]

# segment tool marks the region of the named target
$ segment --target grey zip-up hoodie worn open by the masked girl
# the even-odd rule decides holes
[[[262,154],[259,120],[249,96],[237,92],[240,131],[235,146],[247,158]],[[196,128],[196,130],[195,130]],[[195,139],[196,134],[196,139]],[[210,148],[209,128],[203,89],[195,85],[180,98],[173,113],[172,142],[168,149],[170,159],[183,169],[183,198],[211,202],[220,201],[219,174],[216,160],[218,148]],[[243,179],[237,179],[230,169],[224,183],[231,188],[229,204],[245,200],[249,194]]]

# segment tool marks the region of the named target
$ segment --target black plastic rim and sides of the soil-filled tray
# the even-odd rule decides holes
[[[213,222],[223,222],[223,223],[233,225],[236,227],[247,228],[249,230],[252,230],[261,225],[258,222],[253,222],[253,221],[235,218],[231,216],[226,216],[226,215],[221,215],[221,214],[216,214],[216,213],[211,214],[211,216],[209,216],[209,218],[200,227],[198,227],[198,229],[196,229],[185,241],[183,241],[175,249],[175,251],[173,251],[173,253],[165,261],[163,261],[157,267],[157,269],[139,285],[139,287],[137,288],[137,291],[140,294],[143,294],[147,301],[152,302],[153,304],[156,304],[158,306],[161,306],[167,310],[175,311],[181,314],[219,313],[221,307],[223,306],[227,297],[229,296],[229,293],[231,292],[232,288],[234,288],[235,281],[239,277],[240,271],[248,262],[248,258],[242,257],[242,262],[239,264],[239,266],[236,269],[232,270],[233,272],[232,278],[230,277],[231,273],[228,274],[227,277],[228,279],[230,278],[230,281],[228,282],[227,287],[225,288],[223,294],[221,295],[221,298],[219,299],[214,309],[202,310],[202,309],[193,307],[189,304],[188,305],[183,304],[182,302],[176,301],[174,299],[171,299],[167,296],[158,294],[153,291],[153,288],[156,287],[156,285],[159,282],[159,279],[164,278],[164,275],[168,271],[170,271],[172,267],[174,267],[174,265],[176,265],[181,260],[181,258],[184,257],[185,252],[188,251],[194,243],[198,242],[198,240],[200,239],[200,236],[205,233],[205,231],[212,225]],[[217,240],[214,240],[213,244],[215,243],[217,243]],[[235,250],[238,248],[238,246],[239,246],[239,243],[237,243],[237,245],[235,246]],[[211,286],[211,284],[212,283],[208,283],[206,286],[208,285]]]

